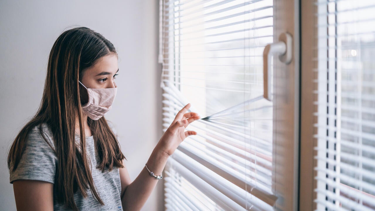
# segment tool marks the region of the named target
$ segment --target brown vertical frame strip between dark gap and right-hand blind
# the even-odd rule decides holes
[[[316,209],[314,199],[316,184],[314,177],[317,175],[314,167],[314,62],[311,58],[316,57],[310,41],[315,40],[314,24],[316,21],[315,0],[301,0],[300,6],[300,33],[301,33],[301,89],[300,89],[300,167],[299,167],[299,210],[313,211]],[[309,41],[309,42],[307,42]],[[302,68],[303,67],[303,68]]]

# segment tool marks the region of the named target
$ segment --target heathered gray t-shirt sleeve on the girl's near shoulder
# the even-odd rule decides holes
[[[53,147],[53,142],[47,134],[42,131],[45,140],[40,133],[39,127],[30,131],[27,137],[26,146],[14,171],[13,165],[10,166],[10,183],[18,179],[40,180],[54,183],[57,157]],[[51,146],[46,142],[48,141]]]

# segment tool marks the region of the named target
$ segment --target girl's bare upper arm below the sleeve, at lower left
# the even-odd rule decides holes
[[[17,211],[52,211],[53,184],[38,180],[13,182]]]

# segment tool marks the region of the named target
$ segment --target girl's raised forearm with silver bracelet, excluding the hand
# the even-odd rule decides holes
[[[155,175],[160,175],[168,157],[165,152],[156,147],[151,153],[150,158],[148,158],[148,169],[154,172]],[[144,167],[137,178],[127,186],[121,198],[123,210],[140,210],[154,190],[157,181],[159,180],[151,176],[146,167]]]

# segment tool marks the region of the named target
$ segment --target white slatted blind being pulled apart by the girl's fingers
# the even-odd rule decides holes
[[[163,127],[185,104],[206,117],[169,158],[167,210],[273,210],[273,104],[263,49],[273,0],[160,0]]]

